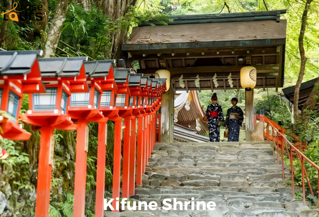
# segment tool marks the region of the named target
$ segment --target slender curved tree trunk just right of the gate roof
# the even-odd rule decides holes
[[[305,48],[303,46],[303,38],[305,35],[306,26],[307,26],[308,10],[312,1],[313,0],[307,0],[305,4],[305,8],[303,10],[302,19],[301,19],[301,28],[300,28],[300,34],[299,34],[299,40],[298,40],[301,63],[300,63],[299,76],[298,76],[297,83],[295,85],[295,92],[293,97],[293,111],[294,111],[295,120],[299,119],[299,111],[298,111],[299,90],[300,90],[300,85],[303,79],[303,75],[305,74],[305,68],[306,68],[306,62],[307,62],[307,57],[305,55]]]

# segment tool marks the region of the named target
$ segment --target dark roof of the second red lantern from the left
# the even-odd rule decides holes
[[[87,57],[40,58],[39,66],[43,78],[76,77],[80,75],[83,61]]]

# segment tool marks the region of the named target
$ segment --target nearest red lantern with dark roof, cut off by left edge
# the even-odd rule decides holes
[[[37,59],[39,55],[42,55],[41,50],[0,52],[0,110],[5,112],[0,114],[0,135],[3,138],[28,140],[31,136],[22,129],[18,119],[24,93],[45,93]]]

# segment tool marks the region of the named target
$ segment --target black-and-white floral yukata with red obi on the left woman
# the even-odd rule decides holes
[[[224,120],[223,110],[221,106],[216,103],[207,106],[206,110],[207,123],[209,129],[209,139],[211,142],[219,142],[220,127],[217,126],[218,122]]]

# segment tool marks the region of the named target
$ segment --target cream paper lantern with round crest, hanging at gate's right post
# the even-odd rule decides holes
[[[257,71],[255,67],[245,66],[240,70],[241,87],[246,91],[251,91],[256,86]]]

